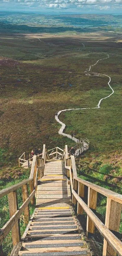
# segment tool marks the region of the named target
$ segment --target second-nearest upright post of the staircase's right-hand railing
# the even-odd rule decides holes
[[[94,212],[97,207],[97,191],[88,187],[88,207]],[[95,232],[95,225],[91,219],[87,216],[87,237],[91,236]]]

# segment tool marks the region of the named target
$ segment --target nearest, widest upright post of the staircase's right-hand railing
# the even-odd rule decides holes
[[[122,204],[107,197],[105,226],[111,232],[119,232]],[[114,232],[113,232],[114,233]],[[114,249],[104,239],[103,255],[117,255]]]

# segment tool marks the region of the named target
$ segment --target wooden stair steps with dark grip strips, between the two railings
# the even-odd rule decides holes
[[[91,255],[71,206],[64,162],[45,163],[38,181],[36,209],[23,236],[20,256]]]

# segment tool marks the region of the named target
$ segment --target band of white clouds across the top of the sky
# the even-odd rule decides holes
[[[110,8],[118,9],[118,6],[122,7],[122,0],[0,0],[0,5],[3,3],[36,9],[79,9],[84,7],[107,11]]]

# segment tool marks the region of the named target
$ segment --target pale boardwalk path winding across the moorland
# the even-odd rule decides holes
[[[84,44],[83,44],[83,46],[84,46]],[[84,46],[85,47],[85,46]],[[104,60],[104,59],[108,59],[109,58],[109,54],[107,54],[107,57],[106,58],[103,58],[103,59],[98,59],[97,60],[97,62],[95,63],[95,64],[93,64],[93,65],[91,65],[90,67],[89,67],[89,70],[87,70],[87,71],[84,71],[85,73],[86,72],[90,72],[91,71],[91,67],[93,67],[93,66],[95,66],[95,65],[97,65],[97,63],[99,62],[99,61],[101,61],[101,60]],[[92,72],[92,74],[96,74],[96,75],[104,75],[104,76],[106,76],[106,77],[108,77],[109,78],[109,81],[108,81],[108,85],[109,85],[109,87],[110,87],[110,89],[112,90],[112,93],[110,93],[108,96],[106,96],[106,97],[104,97],[104,98],[102,98],[102,99],[100,99],[99,100],[99,102],[98,102],[98,105],[97,105],[97,107],[88,107],[88,108],[71,108],[71,109],[64,109],[64,110],[60,110],[59,112],[58,112],[58,114],[57,115],[55,115],[55,119],[56,119],[56,121],[59,123],[59,124],[61,124],[61,128],[60,128],[60,130],[59,130],[59,134],[60,135],[63,135],[63,136],[66,136],[66,137],[68,137],[69,139],[72,139],[72,140],[74,140],[75,142],[77,142],[77,139],[76,138],[71,138],[71,135],[69,135],[69,134],[66,134],[66,133],[64,133],[64,129],[65,129],[65,124],[63,123],[63,122],[61,122],[60,120],[59,120],[59,115],[62,113],[62,112],[64,112],[64,111],[71,111],[71,110],[84,110],[84,109],[96,109],[96,108],[100,108],[100,104],[101,104],[101,101],[103,100],[103,99],[107,99],[107,98],[109,98],[113,93],[114,93],[114,90],[113,90],[113,88],[110,86],[110,81],[111,81],[111,78],[110,78],[110,76],[108,76],[108,75],[106,75],[106,74],[101,74],[101,73],[94,73],[94,72]]]

